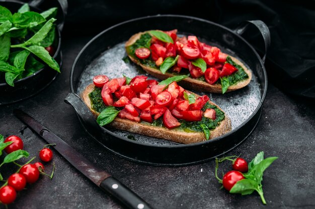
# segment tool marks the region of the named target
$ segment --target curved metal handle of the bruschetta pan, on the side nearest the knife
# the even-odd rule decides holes
[[[77,94],[72,92],[69,93],[64,99],[64,102],[70,104],[74,108],[80,121],[92,136],[95,138],[101,137],[100,133],[102,133],[102,131],[100,125],[96,122],[96,119],[90,109]]]

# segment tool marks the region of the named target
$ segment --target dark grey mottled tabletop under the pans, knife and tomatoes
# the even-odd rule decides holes
[[[12,105],[0,106],[0,133],[22,136],[24,149],[38,156],[45,142],[13,115],[20,108],[80,151],[96,165],[130,187],[154,208],[315,208],[315,107],[313,103],[283,94],[269,84],[261,120],[249,138],[228,155],[252,159],[259,151],[278,156],[264,174],[267,206],[257,193],[229,194],[214,177],[214,161],[186,167],[153,167],[130,162],[107,152],[82,128],[72,107],[63,102],[69,89],[71,65],[92,37],[64,39],[62,74],[38,95]],[[54,152],[52,180],[41,176],[19,192],[9,208],[121,208],[96,185]],[[3,160],[4,156],[1,156]],[[25,162],[26,160],[20,160]],[[51,163],[46,163],[50,172]],[[229,169],[223,164],[222,171]],[[5,178],[17,169],[4,165]],[[5,208],[3,205],[1,208]]]

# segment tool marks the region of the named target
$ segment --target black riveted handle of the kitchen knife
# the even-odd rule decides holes
[[[102,181],[100,187],[112,196],[116,197],[125,206],[131,209],[150,209],[148,203],[141,199],[137,194],[131,191],[114,177],[108,177]]]

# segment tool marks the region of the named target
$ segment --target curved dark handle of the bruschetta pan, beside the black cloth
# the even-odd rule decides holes
[[[268,50],[270,43],[271,43],[271,36],[270,36],[270,31],[268,29],[268,26],[264,22],[259,21],[259,20],[244,21],[236,29],[234,29],[234,33],[236,33],[238,35],[242,35],[247,30],[247,28],[250,24],[253,24],[254,26],[256,26],[264,38],[265,54],[262,58],[262,61],[263,61],[263,63],[265,63],[267,50]]]

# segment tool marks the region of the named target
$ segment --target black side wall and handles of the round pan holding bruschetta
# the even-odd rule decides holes
[[[270,34],[267,26],[261,21],[249,21],[232,31],[198,18],[163,15],[134,19],[113,26],[93,38],[76,57],[70,74],[71,93],[65,98],[65,102],[73,106],[84,128],[104,147],[119,156],[136,162],[159,166],[181,166],[209,160],[243,142],[253,131],[261,115],[267,91],[265,56],[261,59],[254,48],[240,36],[250,23],[256,25],[262,33],[267,50],[270,44]],[[197,37],[207,37],[209,40],[215,40],[219,45],[235,52],[250,66],[261,87],[261,101],[254,113],[240,126],[223,136],[188,145],[141,143],[99,126],[88,107],[76,94],[82,72],[102,52],[118,43],[127,41],[135,33],[152,29],[165,31],[178,29],[179,32],[191,33]]]

